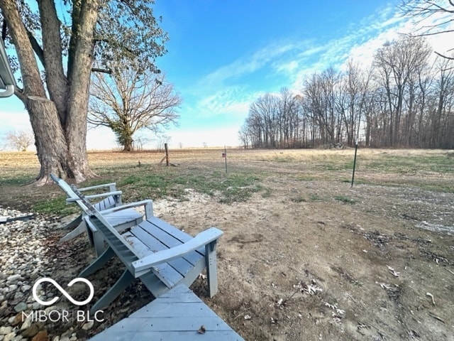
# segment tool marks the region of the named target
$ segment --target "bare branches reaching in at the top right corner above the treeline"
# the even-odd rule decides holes
[[[416,18],[421,28],[411,33],[410,36],[433,36],[454,32],[451,23],[454,21],[453,0],[402,0],[399,9],[406,16]],[[430,21],[431,18],[436,20]],[[452,42],[451,42],[452,43]],[[454,48],[448,48],[447,52]],[[445,53],[435,52],[443,58],[454,60],[454,57]]]

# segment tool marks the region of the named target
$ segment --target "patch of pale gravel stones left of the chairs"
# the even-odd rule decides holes
[[[15,219],[26,215],[29,213],[0,207],[0,217]],[[40,278],[52,278],[76,301],[89,296],[84,283],[71,287],[67,284],[89,265],[94,251],[85,234],[58,244],[67,233],[63,226],[65,222],[60,217],[37,214],[32,219],[0,223],[0,341],[87,340],[153,300],[140,281],[135,281],[96,320],[88,314],[90,303],[73,305],[46,281],[36,287],[38,298],[45,303],[59,298],[50,306],[38,303],[33,297],[33,286]],[[89,276],[95,288],[92,303],[122,272],[122,264],[113,259],[106,269]]]

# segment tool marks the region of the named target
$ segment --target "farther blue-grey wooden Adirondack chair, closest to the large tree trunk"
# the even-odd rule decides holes
[[[60,189],[67,195],[66,202],[70,203],[77,203],[80,207],[79,197],[74,193],[71,186],[60,178],[57,178],[54,174],[50,174],[50,178],[57,183]],[[93,191],[101,191],[101,193],[96,193],[92,195],[85,195],[85,198],[88,199],[99,199],[102,198],[101,201],[96,202],[94,207],[96,210],[103,212],[104,217],[109,223],[114,226],[118,231],[122,231],[123,229],[127,229],[128,227],[135,226],[139,222],[143,221],[143,216],[152,216],[153,215],[153,204],[151,200],[143,200],[141,202],[134,202],[128,205],[122,205],[121,202],[121,190],[116,190],[115,183],[106,183],[104,185],[96,185],[86,188],[78,188],[79,193],[82,192],[93,192]],[[106,191],[107,190],[107,191]],[[143,206],[143,213],[138,212],[135,210],[137,207]],[[114,207],[122,207],[122,210],[112,210]],[[82,207],[81,207],[82,209]],[[77,237],[79,234],[82,234],[84,231],[87,231],[87,225],[85,224],[85,220],[83,220],[85,213],[82,210],[82,214],[76,217],[74,220],[69,222],[64,229],[73,229],[71,232],[67,233],[64,237],[60,239],[61,242],[66,242],[74,237]],[[99,238],[96,238],[92,233],[89,232],[89,241],[92,245],[94,245],[96,249],[96,254],[104,251],[104,247],[102,247],[103,243]]]

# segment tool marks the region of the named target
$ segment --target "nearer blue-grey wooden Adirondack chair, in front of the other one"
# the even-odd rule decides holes
[[[77,188],[73,186],[72,190],[86,214],[87,227],[108,244],[79,276],[94,274],[113,256],[118,256],[126,266],[114,286],[92,306],[92,313],[108,306],[135,278],[140,278],[153,296],[158,297],[178,284],[189,287],[206,268],[209,296],[216,294],[216,244],[222,235],[221,230],[211,227],[192,237],[157,217],[149,216],[120,234],[106,220],[104,212],[96,210]],[[121,210],[121,207],[113,210]]]

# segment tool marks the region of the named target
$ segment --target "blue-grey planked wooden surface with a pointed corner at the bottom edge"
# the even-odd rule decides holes
[[[201,326],[204,332],[199,332]],[[187,286],[179,285],[90,339],[243,340]]]

